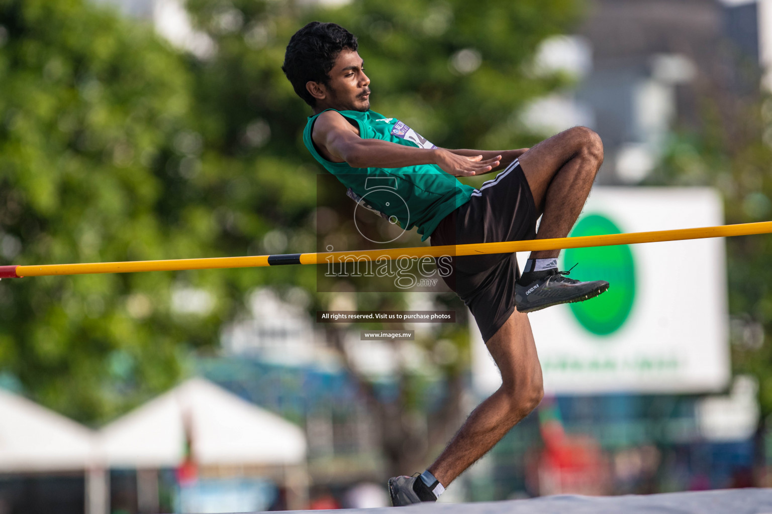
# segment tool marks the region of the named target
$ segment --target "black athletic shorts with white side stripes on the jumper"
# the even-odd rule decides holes
[[[432,233],[432,246],[528,240],[536,237],[537,210],[530,186],[514,160],[495,179],[472,193],[469,202],[445,217]],[[482,340],[488,341],[515,310],[515,254],[452,257],[443,277],[472,311]]]

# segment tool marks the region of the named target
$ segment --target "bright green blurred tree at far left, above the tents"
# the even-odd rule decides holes
[[[0,47],[3,264],[207,256],[212,207],[178,187],[191,80],[151,27],[90,2],[3,0]],[[179,313],[185,278],[3,281],[0,369],[73,418],[116,415],[174,383],[180,343],[213,343],[228,295]]]

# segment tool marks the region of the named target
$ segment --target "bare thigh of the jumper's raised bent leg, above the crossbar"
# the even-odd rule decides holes
[[[588,130],[581,126],[564,130],[518,157],[539,213],[544,210],[544,196],[555,173],[577,153]]]

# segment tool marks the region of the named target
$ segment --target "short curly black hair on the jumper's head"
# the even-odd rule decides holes
[[[306,89],[306,82],[329,85],[327,73],[343,49],[357,51],[357,36],[335,23],[310,22],[289,39],[282,71],[293,89],[308,105],[317,100]]]

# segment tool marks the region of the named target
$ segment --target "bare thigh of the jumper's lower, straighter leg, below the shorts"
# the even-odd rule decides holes
[[[527,314],[515,309],[506,323],[486,341],[486,347],[501,371],[505,388],[518,389],[523,382],[541,382],[541,365]]]

